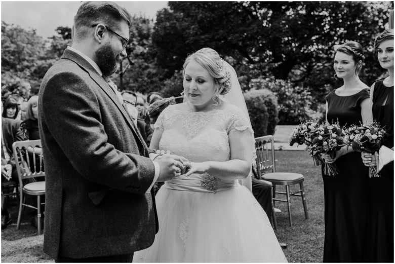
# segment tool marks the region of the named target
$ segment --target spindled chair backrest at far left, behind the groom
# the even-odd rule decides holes
[[[12,144],[12,150],[21,186],[24,179],[45,176],[41,140],[16,141]],[[32,159],[29,159],[29,155]],[[37,162],[39,164],[36,164]],[[33,168],[33,171],[30,168]]]

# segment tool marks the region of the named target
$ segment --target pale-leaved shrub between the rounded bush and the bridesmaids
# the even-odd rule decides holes
[[[309,119],[312,97],[306,88],[273,78],[255,79],[250,86],[255,89],[268,89],[274,93],[278,101],[280,125],[295,125],[300,120]]]

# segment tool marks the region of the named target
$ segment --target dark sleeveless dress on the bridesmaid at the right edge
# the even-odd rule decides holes
[[[377,81],[373,90],[373,120],[385,126],[383,145],[393,147],[393,86]],[[384,103],[385,102],[385,103]],[[367,261],[393,262],[393,162],[380,177],[369,178]]]

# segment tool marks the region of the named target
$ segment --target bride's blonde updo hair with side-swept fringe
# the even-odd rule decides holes
[[[190,54],[185,59],[182,71],[183,78],[185,76],[185,68],[191,60],[198,62],[214,78],[214,83],[216,84],[216,91],[213,100],[216,102],[216,105],[221,104],[221,101],[219,100],[219,95],[227,94],[231,88],[230,72],[224,66],[223,59],[219,56],[218,52],[211,48],[203,48],[201,50],[198,50]]]

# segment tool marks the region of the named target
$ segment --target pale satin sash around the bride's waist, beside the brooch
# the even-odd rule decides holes
[[[189,177],[191,177],[191,176],[189,176]],[[202,182],[199,178],[196,178],[196,177],[189,178],[189,177],[188,178],[186,178],[186,177],[173,178],[171,180],[166,181],[165,184],[163,185],[163,187],[166,187],[171,190],[177,190],[177,191],[212,193],[212,191],[209,191],[205,187],[202,186]],[[231,181],[219,180],[218,186],[216,188],[216,192],[225,191],[225,190],[229,190],[232,188],[237,188],[238,186],[240,186],[238,180],[231,180]]]

